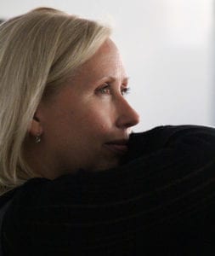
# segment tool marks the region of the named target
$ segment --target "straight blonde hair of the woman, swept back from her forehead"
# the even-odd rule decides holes
[[[109,37],[107,26],[50,8],[0,26],[0,194],[35,177],[22,148],[42,96],[59,90]]]

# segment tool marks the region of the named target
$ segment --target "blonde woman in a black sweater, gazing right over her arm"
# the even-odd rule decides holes
[[[48,8],[6,21],[0,86],[3,255],[212,252],[215,131],[130,136],[109,28]]]

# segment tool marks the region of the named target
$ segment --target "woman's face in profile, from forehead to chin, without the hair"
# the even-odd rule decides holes
[[[121,56],[108,39],[62,90],[37,108],[30,133],[41,134],[34,147],[42,166],[34,160],[32,164],[42,176],[117,166],[127,151],[131,127],[139,123],[126,92]]]

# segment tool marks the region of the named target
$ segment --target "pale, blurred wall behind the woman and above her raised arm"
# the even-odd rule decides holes
[[[0,19],[41,6],[102,20],[130,77],[127,100],[157,125],[215,126],[214,0],[1,0]]]

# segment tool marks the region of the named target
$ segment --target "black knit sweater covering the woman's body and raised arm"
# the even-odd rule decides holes
[[[3,219],[5,255],[215,255],[215,129],[133,134],[122,166],[34,178]]]

